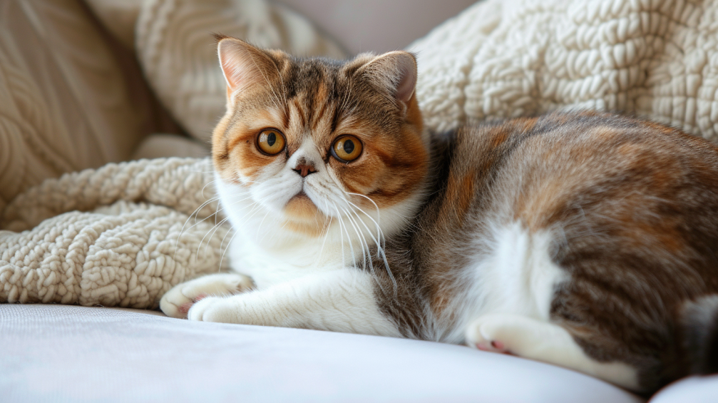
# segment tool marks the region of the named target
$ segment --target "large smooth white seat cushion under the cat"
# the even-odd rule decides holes
[[[0,305],[6,402],[640,402],[567,369],[462,346]]]

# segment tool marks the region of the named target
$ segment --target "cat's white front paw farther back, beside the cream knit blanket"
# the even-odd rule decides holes
[[[197,277],[169,289],[159,300],[159,309],[172,318],[187,318],[197,300],[209,295],[234,295],[253,286],[252,280],[238,273],[218,273]]]

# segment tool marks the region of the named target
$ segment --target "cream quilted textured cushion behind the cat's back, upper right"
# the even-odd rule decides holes
[[[593,108],[718,139],[718,1],[485,0],[409,47],[426,123]]]

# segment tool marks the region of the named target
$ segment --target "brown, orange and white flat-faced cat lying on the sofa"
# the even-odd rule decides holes
[[[408,52],[218,37],[236,274],[169,316],[466,343],[651,392],[718,370],[718,147],[593,112],[422,125]]]

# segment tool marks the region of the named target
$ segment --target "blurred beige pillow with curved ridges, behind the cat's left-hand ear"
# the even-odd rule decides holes
[[[345,57],[339,45],[281,4],[144,0],[135,31],[144,73],[174,118],[203,142],[225,111],[213,32],[293,55]]]

